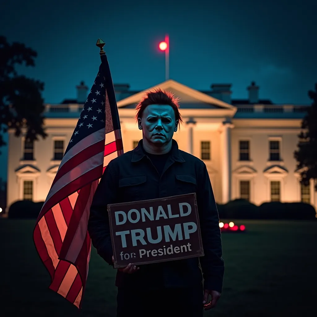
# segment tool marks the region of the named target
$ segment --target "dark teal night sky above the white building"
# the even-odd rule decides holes
[[[46,103],[76,98],[100,64],[100,37],[114,83],[143,90],[165,80],[158,49],[170,35],[170,78],[195,89],[231,83],[246,98],[251,81],[260,98],[308,104],[317,82],[317,4],[314,0],[241,1],[6,1],[0,33],[38,53],[19,73],[45,83]],[[1,166],[6,148],[0,149]],[[6,178],[6,169],[0,171]]]

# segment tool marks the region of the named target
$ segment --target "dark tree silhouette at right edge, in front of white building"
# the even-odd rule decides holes
[[[314,179],[317,191],[317,83],[315,91],[310,90],[308,96],[313,100],[312,106],[308,107],[301,128],[303,131],[298,135],[298,151],[294,152],[297,160],[297,168],[301,170],[301,183],[309,184]]]

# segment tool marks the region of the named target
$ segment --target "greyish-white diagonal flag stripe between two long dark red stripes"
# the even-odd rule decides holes
[[[104,158],[104,151],[94,155],[93,157],[87,159],[86,161],[82,162],[81,164],[75,166],[71,171],[63,175],[50,189],[45,203],[51,198],[57,191],[61,190],[63,187],[65,187],[70,182],[74,181],[76,178],[84,175],[88,171],[93,170],[97,166],[100,166],[100,162],[103,162]]]

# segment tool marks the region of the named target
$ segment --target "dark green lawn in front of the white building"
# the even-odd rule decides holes
[[[48,289],[49,274],[33,245],[34,223],[0,219],[0,316],[115,316],[115,270],[94,248],[81,311]],[[317,221],[237,223],[247,231],[222,235],[223,294],[204,315],[316,316]]]

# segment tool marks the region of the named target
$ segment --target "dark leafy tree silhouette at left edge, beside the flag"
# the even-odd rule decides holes
[[[35,66],[37,53],[23,43],[13,42],[0,36],[0,147],[5,145],[2,133],[14,129],[20,136],[25,128],[29,141],[47,136],[43,128],[44,104],[41,92],[44,83],[18,75],[16,64]],[[0,152],[1,153],[1,152]]]

